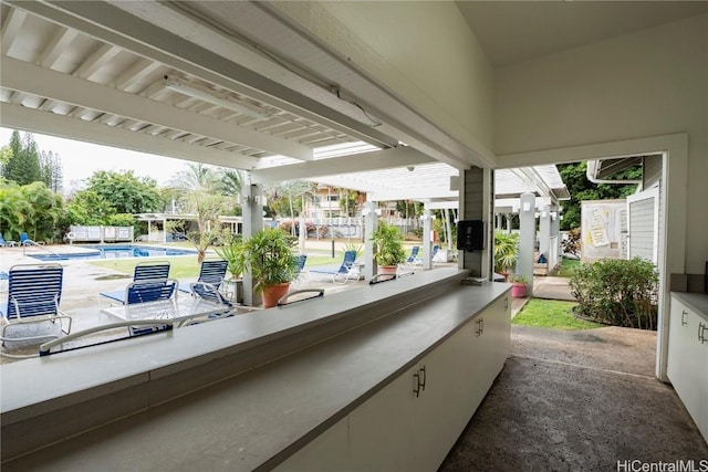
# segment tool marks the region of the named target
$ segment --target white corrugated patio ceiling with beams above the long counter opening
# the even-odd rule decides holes
[[[0,9],[2,126],[244,170],[284,156],[296,165],[290,178],[490,164],[491,154],[456,143],[259,3],[10,0]],[[316,70],[291,62],[303,56]],[[341,82],[379,108],[330,85]],[[377,153],[320,151],[348,144]]]

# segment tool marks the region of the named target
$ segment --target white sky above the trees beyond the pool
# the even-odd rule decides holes
[[[21,135],[24,132],[20,132]],[[0,127],[0,147],[10,144],[12,129]],[[63,193],[83,187],[82,180],[96,170],[133,170],[136,176],[152,177],[158,185],[166,183],[175,174],[186,167],[187,161],[136,153],[117,147],[101,146],[72,139],[32,133],[40,150],[59,154],[64,177]]]

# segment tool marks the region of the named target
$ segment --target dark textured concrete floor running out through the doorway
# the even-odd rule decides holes
[[[635,460],[700,470],[708,444],[654,377],[655,343],[637,329],[513,325],[511,356],[440,471],[617,471]]]

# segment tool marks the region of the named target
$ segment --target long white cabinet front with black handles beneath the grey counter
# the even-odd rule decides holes
[[[435,471],[509,355],[508,294],[278,470]]]

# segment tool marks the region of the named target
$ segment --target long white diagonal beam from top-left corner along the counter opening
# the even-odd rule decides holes
[[[275,74],[275,78],[271,78],[242,66],[235,59],[225,60],[225,56],[215,53],[210,48],[197,45],[194,42],[195,35],[212,32],[177,14],[171,8],[160,2],[116,2],[116,6],[96,1],[40,3],[6,0],[6,2],[55,23],[83,31],[110,44],[119,45],[169,67],[201,77],[218,86],[269,103],[313,122],[323,123],[327,127],[366,143],[384,147],[398,145],[397,139],[283,86],[279,80],[283,75],[294,75],[284,67],[280,67],[280,74]],[[233,2],[233,4],[237,3]],[[140,18],[124,11],[131,9],[135,9],[135,14],[139,14]],[[181,29],[188,21],[191,21],[191,28]],[[170,32],[173,30],[177,30],[179,34]],[[180,34],[188,35],[190,39],[183,38]],[[249,56],[274,63],[238,42],[228,41],[223,44],[228,44],[230,55],[236,57]]]

